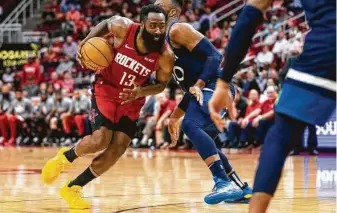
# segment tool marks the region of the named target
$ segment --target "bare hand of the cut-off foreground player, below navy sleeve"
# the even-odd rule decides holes
[[[208,102],[208,109],[215,126],[219,131],[223,132],[226,121],[220,115],[221,110],[227,109],[232,120],[236,117],[229,83],[218,80],[215,92]]]

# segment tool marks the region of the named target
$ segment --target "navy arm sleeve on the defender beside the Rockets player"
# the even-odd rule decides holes
[[[192,54],[206,58],[205,66],[199,79],[207,83],[212,77],[217,76],[222,56],[207,38],[204,37],[200,40],[197,46],[193,48]]]

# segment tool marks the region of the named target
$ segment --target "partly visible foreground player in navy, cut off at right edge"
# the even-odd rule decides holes
[[[220,111],[231,105],[230,82],[272,0],[248,0],[225,53],[221,79],[209,102],[212,119],[224,128]],[[311,31],[302,54],[291,65],[275,105],[258,164],[250,213],[263,213],[279,183],[284,162],[308,124],[324,125],[336,108],[336,0],[301,1]],[[233,115],[233,113],[230,113]]]

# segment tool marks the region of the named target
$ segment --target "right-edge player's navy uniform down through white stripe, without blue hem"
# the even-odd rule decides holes
[[[310,31],[305,37],[303,52],[292,64],[286,81],[335,97],[336,0],[301,2]]]

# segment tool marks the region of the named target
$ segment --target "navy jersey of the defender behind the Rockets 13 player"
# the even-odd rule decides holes
[[[206,58],[202,56],[193,55],[187,48],[180,47],[180,48],[174,48],[170,42],[169,34],[171,27],[178,23],[177,21],[171,22],[171,24],[168,26],[169,30],[166,36],[166,40],[171,46],[171,49],[173,50],[175,54],[175,62],[173,67],[173,77],[175,81],[179,84],[182,90],[185,92],[188,92],[188,89],[193,86],[197,80],[199,79],[200,74],[204,70],[204,66],[206,63]],[[211,78],[206,83],[207,88],[214,89],[215,88],[215,82],[217,78],[220,76],[220,68],[217,75],[214,75],[213,78]]]

